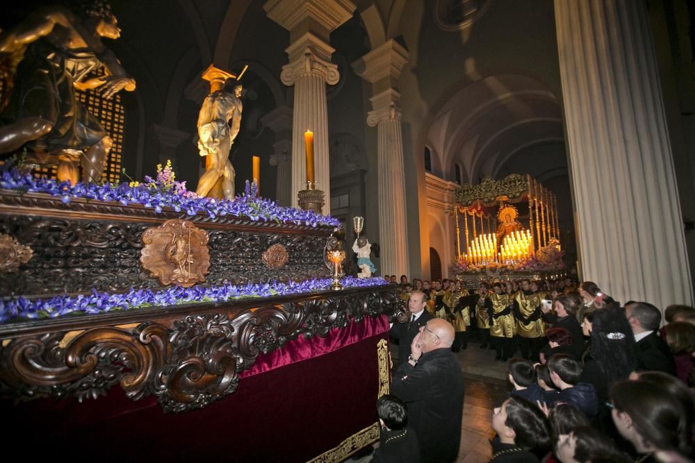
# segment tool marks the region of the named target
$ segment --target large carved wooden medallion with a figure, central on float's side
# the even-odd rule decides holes
[[[142,267],[162,285],[190,287],[205,281],[210,267],[208,234],[187,220],[172,219],[142,234]]]

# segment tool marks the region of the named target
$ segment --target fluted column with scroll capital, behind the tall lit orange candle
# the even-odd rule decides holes
[[[335,51],[329,34],[352,17],[356,7],[347,0],[269,0],[263,5],[268,17],[290,31],[285,50],[289,63],[280,75],[282,83],[294,85],[292,128],[292,205],[298,207],[297,192],[306,188],[304,132],[313,132],[316,188],[326,201],[323,214],[330,212],[328,157],[328,110],[326,84],[338,83],[338,66],[330,62]]]

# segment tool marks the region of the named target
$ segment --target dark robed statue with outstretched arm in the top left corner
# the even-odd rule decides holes
[[[38,164],[58,164],[58,180],[100,182],[112,140],[99,120],[79,103],[75,89],[100,88],[111,99],[135,90],[101,37],[117,39],[120,29],[104,0],[85,3],[81,17],[60,6],[34,12],[0,33],[0,68],[11,85],[0,114],[0,153],[22,147]],[[104,76],[95,73],[104,71]]]

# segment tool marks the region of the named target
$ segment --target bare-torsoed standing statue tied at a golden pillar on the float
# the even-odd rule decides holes
[[[231,81],[227,81],[229,83]],[[234,199],[234,167],[229,161],[229,150],[241,126],[241,91],[236,85],[234,94],[217,90],[205,97],[198,115],[198,149],[201,156],[208,156],[206,171],[198,180],[195,193],[208,196],[219,180],[222,180],[222,195]]]

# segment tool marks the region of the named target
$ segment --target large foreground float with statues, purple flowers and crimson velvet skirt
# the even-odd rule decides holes
[[[0,153],[7,154],[0,167],[6,441],[51,457],[345,460],[379,439],[374,407],[389,392],[389,321],[404,316],[395,285],[341,278],[345,253],[329,254],[340,221],[261,198],[257,161],[255,181],[231,197],[227,156],[240,119],[240,88],[234,94],[211,88],[229,111],[210,117],[214,126],[208,120],[199,126],[207,170],[218,170],[205,194],[217,198],[188,192],[168,162],[155,179],[101,183],[110,137],[79,103],[77,84],[115,93],[135,90],[135,82],[100,38],[87,33],[120,33],[108,4],[94,3],[83,12],[45,10],[36,17],[47,24],[35,35],[26,24],[0,33],[0,51],[26,50],[30,58],[13,56],[10,64],[22,61],[9,69],[15,74],[0,62],[0,78],[19,76],[0,85],[3,102],[29,101],[13,99],[9,90],[31,84],[31,96],[40,102],[52,96],[46,101],[64,110],[56,121],[0,122]],[[47,50],[54,46],[64,59],[60,50]],[[93,55],[90,70],[107,73],[71,75],[83,68],[65,64],[76,53],[67,53],[70,47]],[[50,81],[60,66],[59,78]],[[208,71],[206,80],[218,84],[232,76]],[[96,134],[89,140],[63,130],[79,132],[86,123]],[[220,145],[226,151],[211,158]],[[31,174],[27,160],[58,163],[58,180]]]

